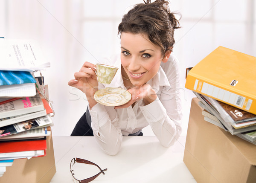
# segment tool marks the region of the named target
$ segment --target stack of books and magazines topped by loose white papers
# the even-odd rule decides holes
[[[0,48],[1,177],[14,159],[46,155],[53,110],[42,89],[42,77],[34,76],[49,67],[49,63],[42,61],[38,44],[31,40],[0,39]]]

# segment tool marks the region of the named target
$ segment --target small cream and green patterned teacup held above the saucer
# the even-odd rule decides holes
[[[97,80],[102,84],[110,84],[116,75],[117,67],[96,64]]]

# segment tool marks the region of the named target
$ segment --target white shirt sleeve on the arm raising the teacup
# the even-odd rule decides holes
[[[102,150],[115,155],[122,148],[122,132],[114,107],[96,104],[89,108],[93,135]]]

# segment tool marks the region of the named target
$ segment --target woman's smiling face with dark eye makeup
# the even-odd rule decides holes
[[[148,36],[122,32],[121,64],[134,86],[141,86],[153,78],[161,61],[165,59],[160,47],[149,41]]]

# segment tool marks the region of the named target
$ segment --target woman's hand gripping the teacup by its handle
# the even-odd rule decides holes
[[[84,62],[83,66],[74,74],[75,79],[68,82],[68,85],[81,90],[87,98],[92,98],[98,90],[97,75],[95,73],[96,65],[90,62]]]

